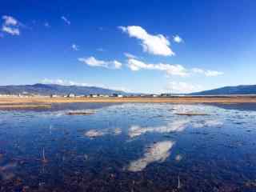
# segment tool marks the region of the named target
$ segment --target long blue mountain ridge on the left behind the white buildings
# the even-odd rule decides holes
[[[61,86],[56,84],[34,84],[24,86],[0,86],[0,94],[127,94],[122,90],[110,90],[96,86]]]

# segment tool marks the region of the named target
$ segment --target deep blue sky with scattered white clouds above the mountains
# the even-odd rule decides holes
[[[256,2],[1,1],[1,85],[186,93],[255,83]]]

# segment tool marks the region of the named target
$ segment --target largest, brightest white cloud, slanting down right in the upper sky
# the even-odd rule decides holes
[[[118,26],[120,30],[129,34],[131,38],[141,40],[143,50],[149,54],[172,56],[169,40],[162,34],[148,34],[141,26]]]

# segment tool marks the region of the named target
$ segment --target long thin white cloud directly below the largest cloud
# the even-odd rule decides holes
[[[164,63],[146,64],[134,58],[128,59],[128,67],[130,70],[162,70],[165,71],[166,74],[178,75],[182,77],[188,75],[186,69],[181,65],[170,65]]]

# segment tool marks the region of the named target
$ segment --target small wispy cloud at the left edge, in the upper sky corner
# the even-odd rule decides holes
[[[18,20],[11,17],[4,15],[2,16],[3,24],[2,24],[2,32],[5,32],[7,34],[11,35],[19,35],[20,31],[18,29]]]

